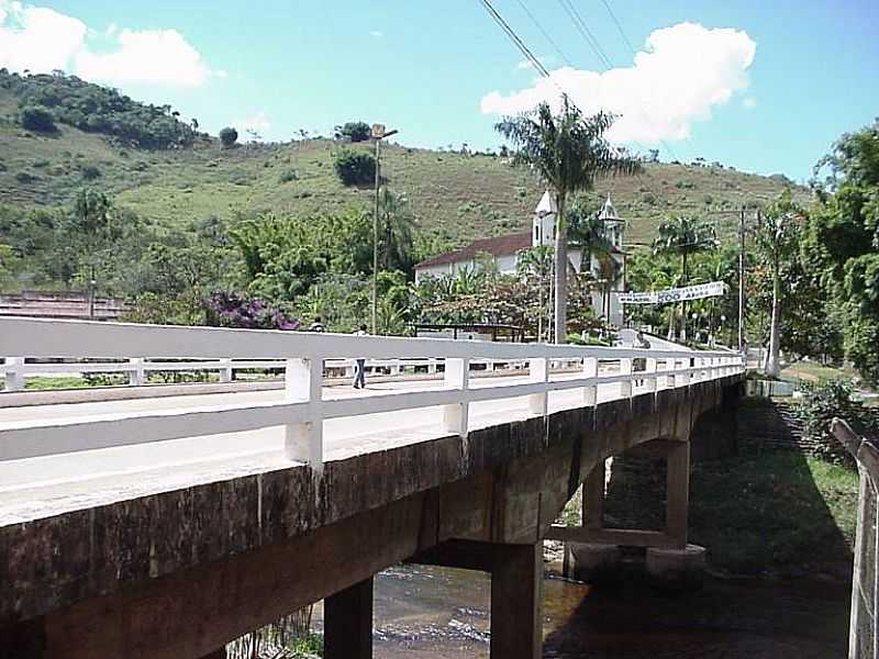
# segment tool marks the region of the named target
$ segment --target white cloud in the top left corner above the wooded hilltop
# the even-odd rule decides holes
[[[92,38],[109,42],[97,49]],[[21,71],[62,69],[114,85],[199,87],[212,71],[176,30],[131,30],[110,24],[100,34],[52,9],[0,0],[0,66]]]

